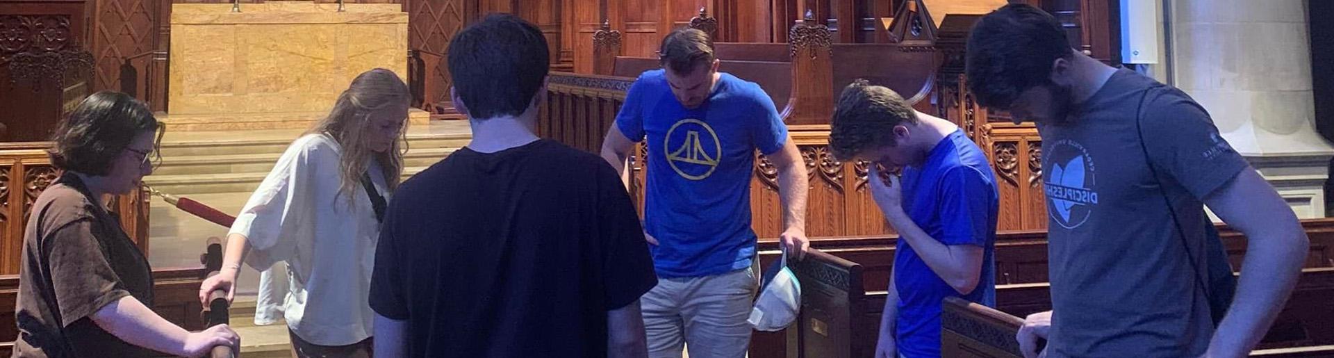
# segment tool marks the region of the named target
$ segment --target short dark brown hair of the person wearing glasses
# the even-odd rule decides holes
[[[60,122],[47,154],[57,168],[107,175],[116,156],[143,132],[157,132],[156,152],[163,135],[160,128],[161,123],[143,102],[121,92],[101,91],[85,98]]]

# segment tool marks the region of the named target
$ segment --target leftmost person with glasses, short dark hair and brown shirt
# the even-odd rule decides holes
[[[201,357],[240,343],[227,325],[188,333],[149,309],[148,260],[103,202],[152,174],[161,134],[148,107],[119,92],[88,96],[57,127],[49,156],[64,174],[24,231],[15,357]]]

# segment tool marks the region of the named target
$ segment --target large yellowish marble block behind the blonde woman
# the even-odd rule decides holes
[[[407,79],[408,15],[399,4],[172,4],[168,130],[305,128],[356,75]],[[430,115],[414,110],[410,119]]]

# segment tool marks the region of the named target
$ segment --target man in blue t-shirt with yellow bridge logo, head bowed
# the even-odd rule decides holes
[[[643,297],[650,357],[744,357],[756,290],[750,183],[755,151],[778,170],[780,235],[800,256],[806,167],[774,102],[755,83],[718,72],[708,35],[682,28],[663,39],[662,69],[639,76],[607,132],[602,156],[624,175],[634,143],[647,142],[644,236],[658,286]]]

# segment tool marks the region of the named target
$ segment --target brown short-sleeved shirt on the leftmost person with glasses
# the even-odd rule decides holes
[[[37,195],[24,231],[13,357],[153,357],[92,314],[127,295],[153,306],[153,277],[120,223],[65,172]]]

